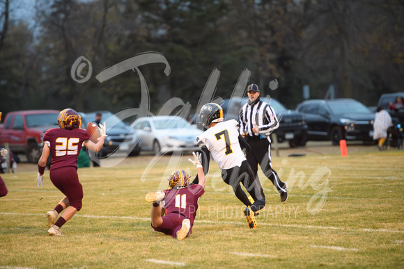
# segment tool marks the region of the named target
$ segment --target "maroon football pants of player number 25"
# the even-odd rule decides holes
[[[83,186],[79,182],[77,169],[72,166],[56,168],[50,170],[49,176],[54,186],[68,197],[70,206],[79,211],[82,206]]]

